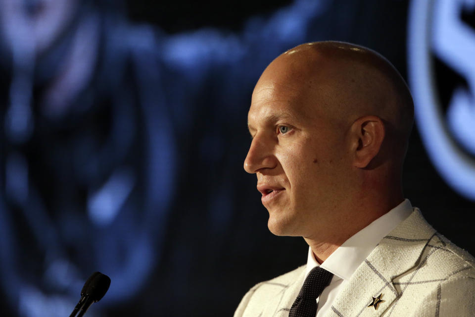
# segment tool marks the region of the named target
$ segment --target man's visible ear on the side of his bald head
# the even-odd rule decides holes
[[[375,115],[364,116],[353,122],[350,129],[353,165],[368,167],[381,149],[385,136],[384,123]]]

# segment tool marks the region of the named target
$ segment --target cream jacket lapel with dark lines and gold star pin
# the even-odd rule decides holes
[[[379,317],[389,312],[401,294],[400,287],[393,283],[418,264],[434,233],[421,212],[414,209],[344,282],[325,317]],[[378,308],[368,307],[380,294],[383,301],[377,304]]]

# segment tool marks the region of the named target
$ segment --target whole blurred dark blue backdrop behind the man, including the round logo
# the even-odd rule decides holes
[[[475,254],[474,0],[0,0],[0,315],[232,316],[306,262],[242,163],[255,82],[348,41],[408,80],[405,196]]]

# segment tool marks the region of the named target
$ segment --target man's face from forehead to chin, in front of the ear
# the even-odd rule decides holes
[[[275,63],[252,94],[244,169],[257,175],[270,231],[311,238],[334,226],[344,200],[347,140],[321,93],[328,82],[324,72],[298,81],[294,69]]]

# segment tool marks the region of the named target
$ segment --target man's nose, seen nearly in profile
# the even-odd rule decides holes
[[[244,160],[244,170],[250,174],[256,173],[263,168],[275,168],[277,158],[273,153],[273,146],[269,140],[261,136],[254,136]]]

